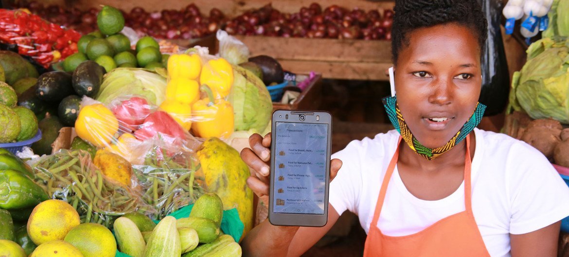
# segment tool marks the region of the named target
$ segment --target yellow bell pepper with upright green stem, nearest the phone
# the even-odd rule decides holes
[[[234,130],[233,107],[224,99],[214,99],[212,90],[207,85],[201,89],[208,94],[192,106],[192,131],[196,136],[209,138],[229,138]]]

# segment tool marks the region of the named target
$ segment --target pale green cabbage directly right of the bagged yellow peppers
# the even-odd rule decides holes
[[[269,124],[273,102],[263,81],[251,71],[233,65],[234,81],[229,102],[235,114],[235,130],[261,133]]]

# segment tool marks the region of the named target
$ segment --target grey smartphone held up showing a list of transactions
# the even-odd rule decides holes
[[[282,226],[324,226],[332,116],[328,112],[273,112],[269,221]]]

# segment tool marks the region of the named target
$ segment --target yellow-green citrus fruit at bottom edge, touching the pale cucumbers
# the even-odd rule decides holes
[[[77,247],[85,257],[114,257],[117,252],[113,233],[100,224],[85,223],[73,227],[64,240]]]

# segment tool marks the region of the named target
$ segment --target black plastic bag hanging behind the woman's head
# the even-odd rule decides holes
[[[497,115],[508,104],[510,74],[500,31],[502,1],[478,1],[488,20],[488,39],[482,49],[482,91],[479,102],[485,104],[484,116]]]

